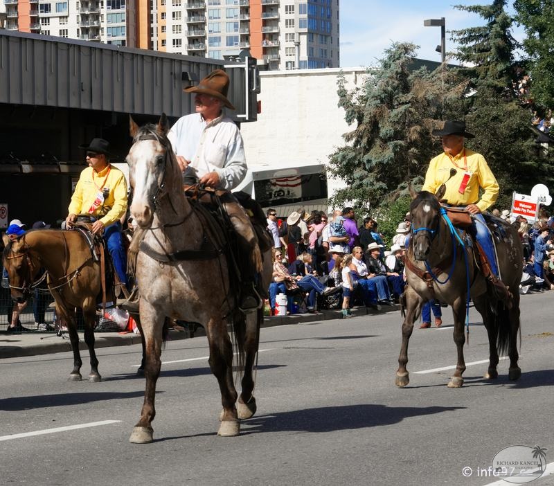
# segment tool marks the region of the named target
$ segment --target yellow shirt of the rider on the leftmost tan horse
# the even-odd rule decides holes
[[[107,196],[93,213],[89,213],[89,208],[93,206],[98,192],[101,191]],[[91,214],[100,219],[104,226],[109,226],[118,221],[126,211],[127,181],[123,172],[109,164],[100,172],[95,172],[91,167],[81,172],[75,192],[71,196],[70,214]]]

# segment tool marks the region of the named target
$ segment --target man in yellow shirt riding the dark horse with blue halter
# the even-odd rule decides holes
[[[485,157],[464,147],[465,138],[474,136],[465,131],[465,123],[455,120],[445,121],[442,130],[433,130],[433,135],[441,136],[443,154],[431,159],[425,182],[421,190],[435,194],[444,183],[445,196],[451,206],[465,206],[473,215],[476,240],[485,252],[490,269],[495,277],[499,276],[497,258],[492,238],[481,213],[497,200],[499,186]],[[451,171],[456,173],[451,177]],[[483,194],[479,197],[479,189]]]

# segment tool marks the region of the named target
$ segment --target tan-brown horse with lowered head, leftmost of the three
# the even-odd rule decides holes
[[[100,381],[98,359],[94,351],[96,297],[100,293],[100,264],[95,262],[89,245],[79,231],[31,230],[13,242],[3,252],[3,264],[10,278],[12,299],[25,302],[41,268],[48,273],[48,288],[54,297],[56,313],[66,322],[73,350],[73,371],[69,381],[82,379],[79,336],[75,323],[75,307],[84,318],[84,342],[91,361],[89,381]]]

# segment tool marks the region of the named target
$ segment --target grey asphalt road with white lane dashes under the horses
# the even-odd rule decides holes
[[[143,400],[144,381],[134,375],[139,346],[98,350],[99,384],[65,381],[69,353],[3,359],[0,483],[492,484],[497,478],[488,467],[506,447],[539,445],[554,462],[551,294],[523,298],[517,382],[508,380],[508,361],[496,381],[482,378],[486,363],[471,364],[488,359],[485,329],[472,309],[460,389],[446,386],[452,370],[437,370],[456,364],[447,309],[442,328],[414,331],[411,383],[402,389],[394,384],[399,312],[266,328],[258,413],[237,438],[215,435],[220,393],[205,337],[168,343],[155,441],[144,445],[128,442]],[[554,476],[533,482],[551,484]]]

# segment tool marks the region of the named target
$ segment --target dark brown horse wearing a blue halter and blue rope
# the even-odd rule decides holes
[[[498,377],[499,352],[508,350],[509,377],[513,380],[518,379],[521,376],[517,364],[517,334],[523,249],[517,231],[503,219],[487,217],[488,226],[497,245],[501,280],[512,294],[506,303],[497,298],[477,267],[475,262],[478,259],[474,255],[472,245],[468,244],[469,238],[460,235],[458,240],[451,230],[439,204],[440,195],[436,197],[423,191],[413,196],[415,199],[410,206],[412,236],[406,253],[406,315],[402,324],[402,347],[398,358],[396,385],[409,384],[406,363],[413,323],[420,316],[422,305],[435,298],[451,305],[454,314],[454,342],[458,349],[458,362],[448,386],[459,388],[463,385],[464,321],[468,285],[475,309],[483,317],[488,333],[490,361],[485,378]]]

